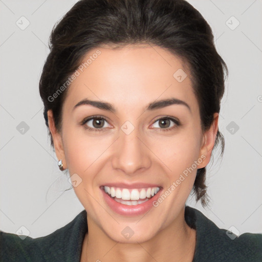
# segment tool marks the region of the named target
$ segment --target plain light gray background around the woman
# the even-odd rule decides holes
[[[188,204],[220,228],[234,226],[241,234],[262,232],[262,1],[189,2],[213,29],[217,50],[229,68],[229,78],[219,122],[226,140],[225,154],[222,160],[209,165],[207,177],[211,202],[206,209],[200,203],[195,205],[194,199],[189,198]],[[3,231],[15,233],[25,226],[31,237],[47,235],[83,210],[73,189],[64,192],[71,185],[68,176],[59,171],[49,145],[38,93],[51,29],[74,3],[0,0]],[[21,16],[30,23],[24,30],[21,27],[28,22]],[[24,134],[20,129],[25,126],[22,121],[29,127]]]

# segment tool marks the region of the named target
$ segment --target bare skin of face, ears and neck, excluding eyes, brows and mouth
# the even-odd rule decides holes
[[[98,49],[98,48],[97,48]],[[97,49],[90,50],[83,61]],[[82,182],[75,193],[88,213],[81,261],[192,261],[195,230],[184,220],[185,202],[193,187],[197,168],[206,166],[217,133],[218,114],[206,132],[201,128],[199,105],[192,89],[190,72],[181,59],[160,47],[127,46],[99,48],[101,54],[71,84],[62,107],[62,129],[58,133],[48,112],[56,156],[70,175]],[[174,72],[187,77],[179,82]],[[108,102],[116,112],[91,105],[73,107],[83,98]],[[177,98],[186,102],[145,111],[151,102]],[[106,118],[101,128],[85,129],[87,117]],[[170,120],[166,127],[161,117]],[[121,126],[129,121],[134,130],[126,135]],[[85,124],[95,129],[93,120]],[[173,127],[171,130],[164,130]],[[100,129],[101,129],[100,128]],[[202,161],[168,197],[145,215],[123,216],[107,206],[99,188],[109,182],[154,183],[163,192],[177,181],[194,161]],[[205,159],[203,160],[203,156]],[[134,235],[121,231],[129,226]],[[157,248],[156,248],[157,247]],[[153,257],[153,258],[152,258]],[[153,260],[154,260],[153,259]]]

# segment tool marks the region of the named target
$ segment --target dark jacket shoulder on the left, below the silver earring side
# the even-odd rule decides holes
[[[32,238],[0,231],[0,261],[65,261],[70,257],[73,261],[81,254],[87,230],[83,210],[69,224],[47,236]]]

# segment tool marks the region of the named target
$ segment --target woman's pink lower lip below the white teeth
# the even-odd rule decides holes
[[[158,199],[159,192],[162,191],[162,188],[154,195],[154,197],[150,198],[146,202],[142,204],[138,204],[136,206],[127,206],[121,203],[116,202],[113,198],[110,197],[102,188],[102,194],[106,204],[116,213],[120,215],[128,215],[135,216],[141,215],[148,212],[153,207],[153,202]]]

